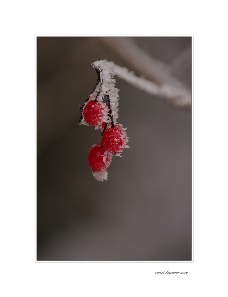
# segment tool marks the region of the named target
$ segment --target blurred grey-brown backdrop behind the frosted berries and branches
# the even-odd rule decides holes
[[[191,45],[130,38],[166,63]],[[102,59],[134,70],[98,37],[37,37],[37,260],[191,260],[191,112],[115,77],[130,149],[95,180],[88,149],[101,135],[78,124],[78,106]],[[177,77],[191,88],[191,64]]]

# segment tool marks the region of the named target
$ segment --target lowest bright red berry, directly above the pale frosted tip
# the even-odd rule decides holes
[[[93,171],[102,171],[111,164],[112,154],[106,151],[101,143],[93,144],[89,149],[89,166]]]

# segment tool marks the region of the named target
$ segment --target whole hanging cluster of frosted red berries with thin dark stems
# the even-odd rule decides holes
[[[111,164],[112,154],[120,156],[120,152],[122,152],[125,147],[128,147],[126,145],[128,143],[128,136],[122,125],[117,124],[116,119],[118,115],[117,112],[113,114],[108,91],[106,92],[108,104],[105,104],[103,103],[103,96],[98,96],[100,95],[100,89],[99,71],[98,82],[94,90],[84,104],[79,107],[81,112],[79,124],[82,124],[84,120],[84,124],[93,126],[95,129],[102,131],[102,143],[95,143],[90,147],[88,161],[94,177],[99,181],[103,181],[104,179],[107,180],[108,173],[106,169]]]

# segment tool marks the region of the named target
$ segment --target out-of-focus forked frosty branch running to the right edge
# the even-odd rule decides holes
[[[128,37],[98,37],[147,79],[139,78],[125,67],[112,64],[117,76],[150,94],[163,97],[179,107],[191,107],[191,91],[171,75],[170,67],[139,49]],[[152,81],[150,81],[152,80]]]

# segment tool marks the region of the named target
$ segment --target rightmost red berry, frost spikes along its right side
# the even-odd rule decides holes
[[[102,136],[102,145],[106,151],[117,154],[126,147],[128,136],[121,124],[106,129]]]

